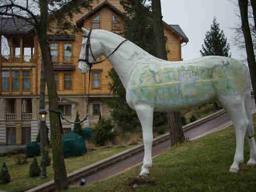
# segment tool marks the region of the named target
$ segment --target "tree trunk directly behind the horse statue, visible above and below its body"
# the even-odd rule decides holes
[[[152,0],[153,29],[156,39],[156,56],[168,60],[164,40],[164,30],[160,0]],[[185,140],[181,126],[180,113],[168,112],[168,126],[171,146]]]

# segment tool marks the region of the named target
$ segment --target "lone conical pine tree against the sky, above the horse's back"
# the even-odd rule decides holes
[[[216,17],[214,17],[210,30],[205,34],[204,44],[200,53],[202,56],[219,55],[231,57],[229,49],[227,38],[223,30],[220,30],[220,24],[217,23]]]

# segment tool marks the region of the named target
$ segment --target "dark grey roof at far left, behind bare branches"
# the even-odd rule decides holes
[[[15,17],[0,17],[0,33],[5,34],[27,34],[34,29],[23,19]]]

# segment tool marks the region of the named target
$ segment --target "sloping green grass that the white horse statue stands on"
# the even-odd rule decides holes
[[[253,116],[256,125],[256,115]],[[254,130],[255,130],[254,126]],[[256,130],[255,130],[256,131]],[[118,176],[70,188],[67,192],[78,191],[256,191],[256,167],[246,166],[249,146],[245,142],[245,162],[240,172],[229,173],[235,150],[233,126],[207,135],[195,141],[177,145],[154,158],[151,174],[147,180],[152,185],[132,188],[131,181],[138,176],[140,166]]]

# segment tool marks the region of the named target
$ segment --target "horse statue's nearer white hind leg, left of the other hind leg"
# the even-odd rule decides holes
[[[245,95],[225,95],[219,96],[218,99],[229,113],[236,132],[236,152],[229,171],[237,173],[239,164],[244,162],[244,137],[249,124],[245,110]]]

